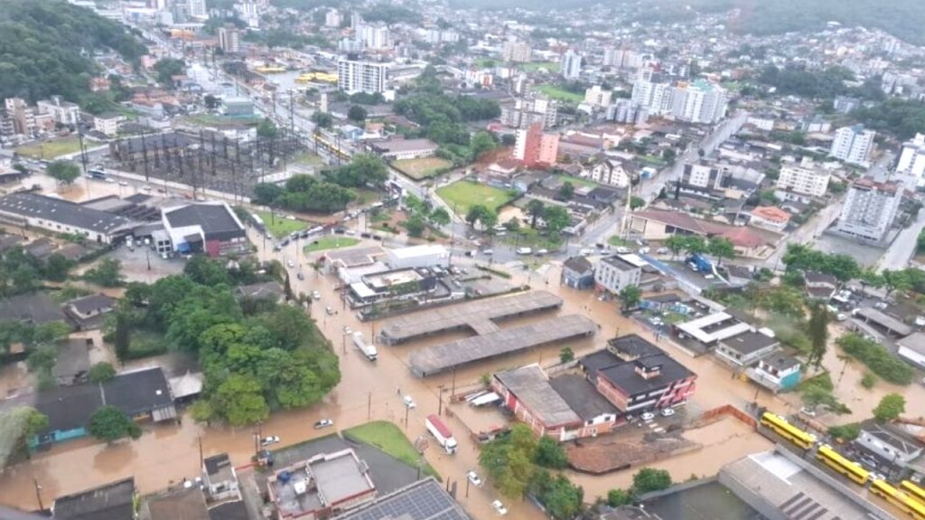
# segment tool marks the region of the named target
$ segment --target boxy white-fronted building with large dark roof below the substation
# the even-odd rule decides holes
[[[173,251],[179,254],[241,254],[249,247],[244,226],[225,203],[165,208],[161,221]]]

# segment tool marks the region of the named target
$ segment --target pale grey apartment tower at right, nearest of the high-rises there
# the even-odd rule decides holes
[[[848,189],[834,231],[856,241],[880,243],[893,227],[902,198],[900,184],[862,177]]]

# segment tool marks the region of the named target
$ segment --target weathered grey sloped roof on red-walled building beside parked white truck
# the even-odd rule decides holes
[[[569,403],[552,388],[539,365],[527,365],[495,374],[502,385],[523,402],[546,427],[555,428],[580,423]]]

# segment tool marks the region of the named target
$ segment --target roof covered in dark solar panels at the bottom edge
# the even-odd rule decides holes
[[[337,520],[470,520],[434,477],[414,482],[376,501],[361,505]]]

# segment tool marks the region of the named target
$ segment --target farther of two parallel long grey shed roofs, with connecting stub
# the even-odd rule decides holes
[[[561,298],[549,291],[527,291],[447,305],[390,319],[382,326],[382,337],[388,342],[398,343],[458,328],[471,328],[476,333],[485,334],[498,330],[494,320],[551,310],[561,304]]]

